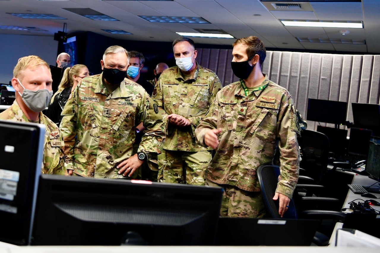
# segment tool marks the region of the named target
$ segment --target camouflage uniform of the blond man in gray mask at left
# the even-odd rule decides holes
[[[38,123],[46,126],[42,173],[59,175],[67,174],[63,165],[65,163],[65,160],[63,159],[64,145],[58,127],[42,112],[40,112],[39,118]],[[32,122],[25,117],[25,114],[22,112],[16,100],[14,100],[12,106],[0,113],[0,119]]]

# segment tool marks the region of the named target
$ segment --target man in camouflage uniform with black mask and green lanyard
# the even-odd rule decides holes
[[[298,180],[299,134],[289,92],[261,72],[264,44],[255,36],[233,44],[231,67],[240,81],[218,92],[195,130],[197,141],[216,149],[207,184],[224,188],[221,215],[263,217],[265,208],[256,169],[272,164],[278,145],[280,179],[274,200],[282,216]]]

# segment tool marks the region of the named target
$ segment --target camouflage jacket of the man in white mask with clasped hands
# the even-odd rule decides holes
[[[168,124],[163,149],[188,152],[211,150],[196,143],[195,128],[222,85],[214,72],[198,63],[196,65],[196,71],[191,76],[184,76],[178,66],[167,68],[153,91],[153,100],[165,110],[164,119],[175,113],[190,121],[190,126],[185,127]]]

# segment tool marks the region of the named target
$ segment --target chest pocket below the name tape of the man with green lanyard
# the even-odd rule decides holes
[[[220,107],[218,112],[217,128],[221,128],[222,135],[226,131],[231,131],[236,128],[236,119],[234,116],[234,108],[236,107],[237,100],[219,100]],[[235,126],[234,126],[235,125]]]

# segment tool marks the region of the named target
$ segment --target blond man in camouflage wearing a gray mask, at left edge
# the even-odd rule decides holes
[[[16,99],[0,113],[0,119],[45,125],[42,173],[65,174],[62,136],[57,125],[42,113],[53,94],[49,65],[38,56],[25,56],[17,62],[13,76]]]

